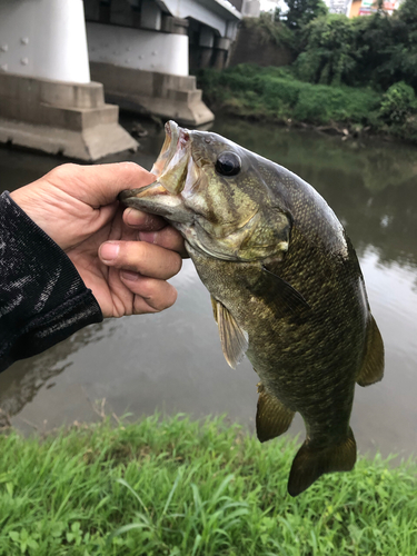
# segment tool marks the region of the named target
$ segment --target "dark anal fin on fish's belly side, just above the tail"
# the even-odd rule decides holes
[[[282,405],[279,399],[258,384],[258,408],[256,414],[256,433],[259,441],[265,443],[285,433],[291,425],[294,411]]]

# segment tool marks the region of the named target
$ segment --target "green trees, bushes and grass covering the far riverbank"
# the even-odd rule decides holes
[[[245,24],[290,49],[294,63],[202,70],[198,80],[208,105],[241,117],[417,142],[417,0],[405,0],[393,16],[379,9],[354,19],[327,13],[321,0],[288,3],[275,21],[261,14]]]

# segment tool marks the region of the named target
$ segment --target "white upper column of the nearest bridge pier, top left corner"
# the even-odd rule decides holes
[[[0,0],[0,71],[89,82],[82,0]]]

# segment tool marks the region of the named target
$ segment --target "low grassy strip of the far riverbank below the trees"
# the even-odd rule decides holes
[[[365,130],[417,142],[415,100],[407,86],[398,85],[383,95],[370,88],[314,85],[296,79],[290,68],[249,63],[224,71],[202,70],[198,83],[215,111],[336,132]]]

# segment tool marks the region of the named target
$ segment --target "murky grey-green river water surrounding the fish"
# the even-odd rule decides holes
[[[129,127],[131,120],[126,117]],[[150,169],[163,131],[149,123],[135,160]],[[309,181],[332,207],[356,247],[373,314],[386,346],[381,383],[357,387],[351,426],[361,453],[408,456],[417,447],[417,149],[218,118],[214,131]],[[63,159],[0,149],[1,187],[22,186]],[[133,417],[178,411],[227,414],[255,429],[256,384],[248,360],[222,356],[209,294],[192,264],[172,284],[177,304],[158,315],[107,320],[80,330],[0,375],[0,408],[20,429],[48,430],[105,410]],[[289,434],[301,433],[296,417]]]

